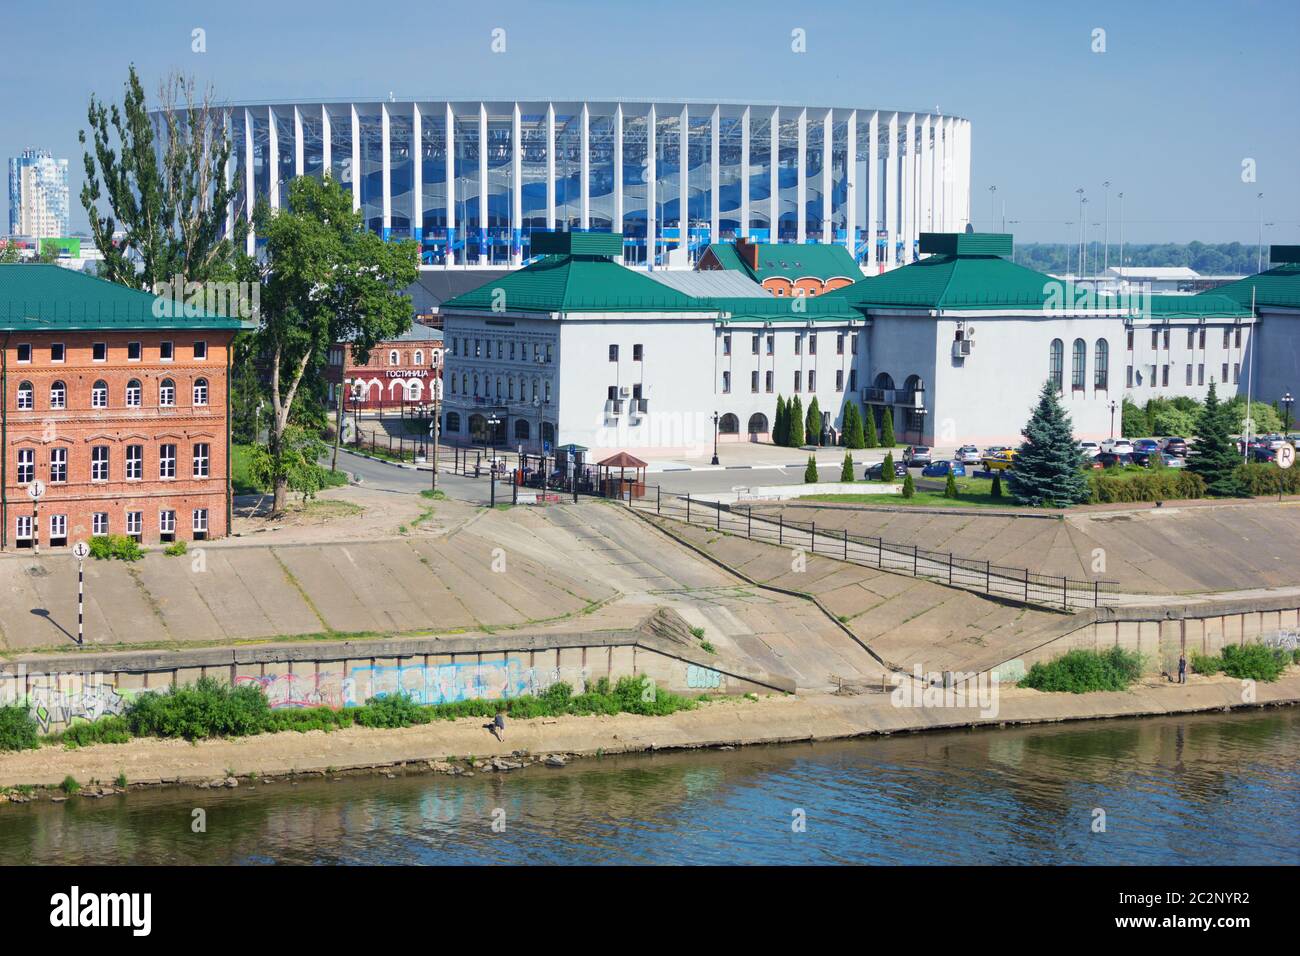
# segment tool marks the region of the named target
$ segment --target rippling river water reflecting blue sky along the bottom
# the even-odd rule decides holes
[[[1297,765],[1287,708],[140,791],[0,806],[0,864],[1297,864]]]

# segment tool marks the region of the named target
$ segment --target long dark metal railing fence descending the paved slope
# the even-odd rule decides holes
[[[1080,610],[1117,602],[1117,581],[1045,575],[1026,567],[1008,567],[991,561],[962,558],[952,551],[932,551],[915,544],[854,535],[846,528],[818,529],[816,522],[789,520],[781,512],[775,516],[754,514],[750,506],[728,507],[715,501],[693,498],[689,493],[664,492],[656,485],[646,486],[644,497],[628,496],[625,501],[628,507],[741,535],[751,541],[801,548],[810,554],[838,558],[913,578],[926,578],[949,587],[1022,604]]]

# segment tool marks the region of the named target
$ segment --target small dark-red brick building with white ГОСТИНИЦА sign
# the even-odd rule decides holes
[[[352,347],[337,343],[329,355],[332,403],[347,384],[344,402],[354,408],[352,385],[361,386],[361,411],[399,410],[403,405],[428,405],[442,384],[442,330],[419,323],[396,338],[377,342],[370,360],[359,364]]]

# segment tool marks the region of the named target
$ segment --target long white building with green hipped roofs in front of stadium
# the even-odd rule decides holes
[[[1245,388],[1256,320],[1222,295],[1097,297],[1006,260],[1001,234],[923,234],[927,258],[816,298],[699,294],[614,261],[621,238],[534,237],[546,258],[441,307],[448,441],[593,455],[767,441],[776,398],[838,431],[858,402],[901,442],[1015,444],[1044,381],[1080,438],[1124,395]],[[694,293],[694,294],[688,294]]]

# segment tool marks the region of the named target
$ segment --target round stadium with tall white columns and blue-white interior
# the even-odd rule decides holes
[[[636,267],[690,267],[748,237],[842,243],[872,273],[913,261],[922,232],[970,221],[970,122],[937,112],[390,96],[226,116],[231,215],[328,172],[426,267],[519,265],[534,230],[569,229],[621,233]]]

